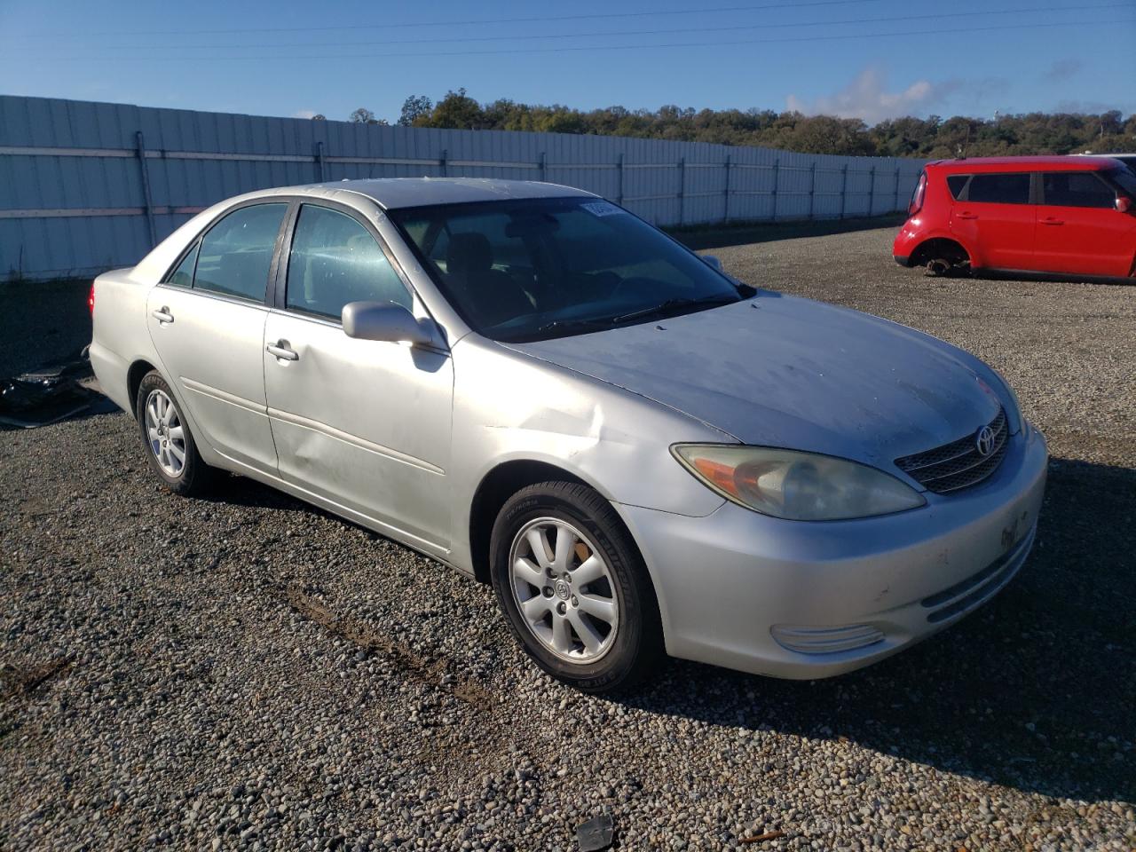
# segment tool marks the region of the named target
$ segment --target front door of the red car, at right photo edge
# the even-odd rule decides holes
[[[1125,277],[1136,251],[1136,217],[1096,172],[1045,172],[1037,209],[1038,268]]]

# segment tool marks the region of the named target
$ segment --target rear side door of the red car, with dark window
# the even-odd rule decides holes
[[[951,231],[974,250],[975,267],[1035,269],[1035,211],[1028,172],[979,173],[951,208]]]

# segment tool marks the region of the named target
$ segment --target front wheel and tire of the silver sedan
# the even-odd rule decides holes
[[[583,692],[613,692],[658,666],[654,587],[619,516],[592,488],[545,482],[518,491],[493,525],[490,558],[509,629],[548,674]]]

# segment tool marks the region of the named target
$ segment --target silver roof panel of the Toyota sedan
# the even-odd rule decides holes
[[[384,210],[429,204],[456,204],[508,199],[595,198],[571,186],[540,181],[502,181],[486,177],[375,177],[302,186],[281,186],[256,195],[317,195],[350,192],[374,200]]]

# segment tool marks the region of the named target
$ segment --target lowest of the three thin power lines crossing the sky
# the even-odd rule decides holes
[[[1117,18],[1111,20],[1110,24],[1136,24],[1136,18]],[[160,61],[187,61],[187,62],[220,62],[220,61],[270,61],[270,60],[285,60],[285,61],[296,61],[307,59],[414,59],[417,57],[426,56],[500,56],[500,55],[512,55],[512,53],[566,53],[566,52],[582,52],[582,51],[610,51],[610,50],[658,50],[661,48],[722,48],[722,47],[736,47],[736,45],[749,45],[749,44],[795,44],[801,42],[821,42],[821,41],[846,41],[855,39],[892,39],[897,36],[909,36],[909,35],[943,35],[943,34],[954,34],[954,33],[989,33],[999,31],[1021,31],[1021,30],[1041,30],[1041,28],[1052,28],[1052,27],[1078,27],[1078,26],[1095,26],[1100,27],[1100,22],[1091,20],[1079,20],[1079,22],[1056,22],[1051,24],[1005,24],[1005,25],[993,25],[993,26],[964,26],[964,27],[936,27],[934,30],[902,30],[893,33],[841,33],[838,35],[801,35],[784,39],[741,39],[735,41],[702,41],[702,42],[669,42],[660,44],[610,44],[610,45],[582,45],[582,47],[561,47],[561,48],[510,48],[502,50],[452,50],[452,51],[415,51],[412,53],[273,53],[267,56],[224,56],[224,57],[201,57],[201,56],[164,56]],[[135,57],[135,56],[75,56],[74,53],[68,53],[66,56],[52,57],[51,61],[92,61],[106,59],[111,61],[130,61],[130,60],[141,60],[147,62],[154,61],[153,57]]]

